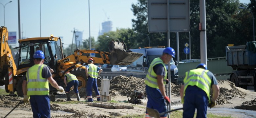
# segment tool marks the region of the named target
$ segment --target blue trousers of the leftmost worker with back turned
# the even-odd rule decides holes
[[[50,118],[50,97],[49,95],[31,95],[30,104],[33,118]]]

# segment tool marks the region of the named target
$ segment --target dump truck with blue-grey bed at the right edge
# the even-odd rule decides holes
[[[244,46],[226,46],[227,66],[233,68],[229,80],[237,87],[247,89],[254,86],[256,91],[256,42]]]

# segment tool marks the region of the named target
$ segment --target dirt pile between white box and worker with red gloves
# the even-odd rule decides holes
[[[115,96],[115,91],[121,95],[130,95],[134,90],[141,90],[145,92],[144,79],[137,77],[126,77],[123,75],[116,76],[110,81],[110,94]]]

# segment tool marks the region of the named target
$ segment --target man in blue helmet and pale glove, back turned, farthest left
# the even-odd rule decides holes
[[[26,76],[22,83],[22,90],[24,94],[23,101],[29,102],[32,107],[34,118],[50,118],[50,97],[49,97],[49,83],[58,91],[63,92],[64,89],[58,86],[52,77],[49,68],[43,64],[44,53],[41,50],[35,51],[33,54],[34,66],[28,69]]]

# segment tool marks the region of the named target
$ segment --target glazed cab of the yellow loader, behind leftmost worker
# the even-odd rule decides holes
[[[20,39],[18,70],[34,65],[33,54],[36,50],[42,50],[45,55],[44,64],[51,69],[57,69],[57,60],[63,59],[61,40],[58,37],[40,37]]]

